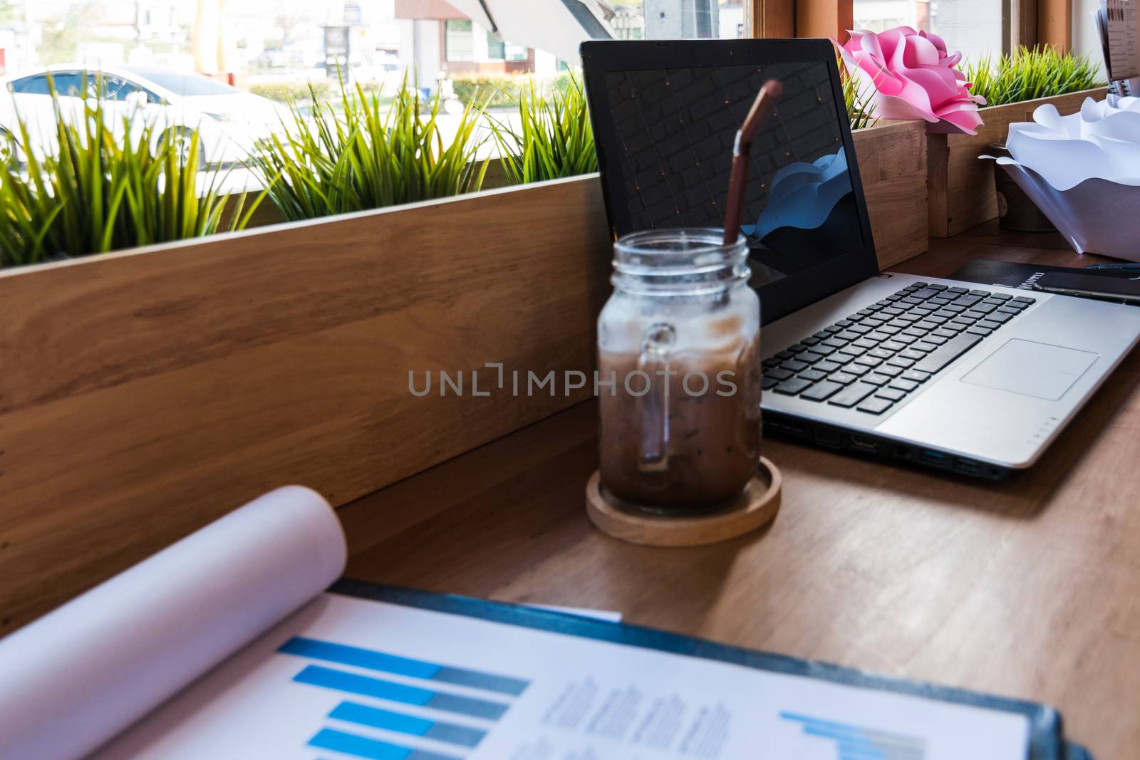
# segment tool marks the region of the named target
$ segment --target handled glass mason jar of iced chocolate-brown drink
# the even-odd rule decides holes
[[[635,232],[597,320],[602,484],[654,513],[714,512],[760,455],[760,301],[743,238]]]

